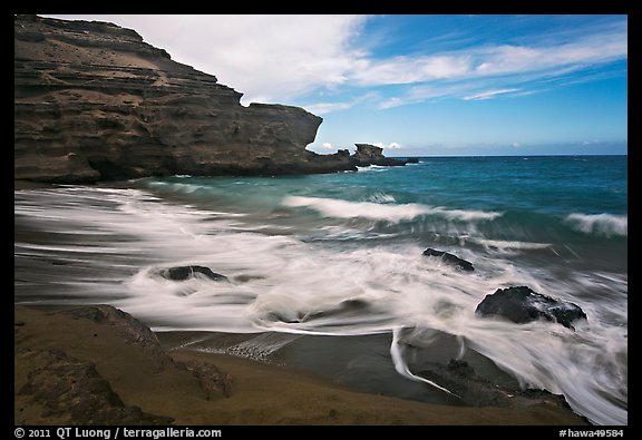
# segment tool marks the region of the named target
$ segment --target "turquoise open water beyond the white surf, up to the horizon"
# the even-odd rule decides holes
[[[625,273],[626,173],[625,156],[440,157],[359,173],[140,185],[163,197],[293,225],[309,232],[301,235],[308,239],[352,234],[471,250],[545,247],[553,262],[560,263],[556,255],[572,266]],[[279,209],[286,215],[279,218]],[[339,236],[317,234],[319,227]]]

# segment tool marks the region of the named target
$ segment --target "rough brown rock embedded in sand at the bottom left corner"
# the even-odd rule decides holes
[[[168,417],[148,414],[128,407],[90,362],[60,351],[23,349],[16,361],[29,364],[20,394],[31,395],[42,408],[41,417],[58,417],[66,424],[169,424]]]

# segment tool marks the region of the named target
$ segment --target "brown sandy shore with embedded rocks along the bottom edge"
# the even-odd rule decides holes
[[[49,362],[47,369],[43,362]],[[95,365],[97,378],[91,380],[103,380],[120,399],[123,408],[113,412],[136,412],[132,408],[138,407],[143,424],[171,419],[177,426],[586,424],[552,401],[514,409],[431,404],[358,392],[307,371],[228,354],[165,351],[146,326],[111,306],[46,312],[23,305],[14,306],[14,423],[123,422],[111,415],[94,423],[98,415],[65,410],[59,390],[42,391],[60,387],[60,375],[65,383],[81,383],[72,379],[81,363]],[[60,366],[67,364],[71,370]]]

